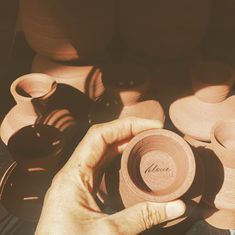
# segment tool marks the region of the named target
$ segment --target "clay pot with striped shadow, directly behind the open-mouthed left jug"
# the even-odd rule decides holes
[[[31,71],[50,75],[57,83],[72,86],[93,100],[104,92],[100,69],[95,66],[67,65],[36,55]]]

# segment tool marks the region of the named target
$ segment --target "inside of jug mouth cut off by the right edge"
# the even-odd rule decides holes
[[[214,136],[223,147],[235,151],[235,121],[223,122],[216,126]]]

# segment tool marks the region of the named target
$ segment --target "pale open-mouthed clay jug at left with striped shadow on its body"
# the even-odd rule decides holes
[[[12,83],[11,93],[17,104],[1,124],[0,134],[5,144],[18,130],[34,124],[52,125],[68,135],[78,131],[78,126],[87,127],[87,98],[84,99],[77,90],[74,94],[72,88],[56,84],[48,75],[33,73],[21,76]],[[82,115],[79,106],[84,107]]]

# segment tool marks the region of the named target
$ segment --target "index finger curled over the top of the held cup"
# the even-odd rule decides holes
[[[95,168],[105,157],[110,146],[122,144],[138,133],[162,128],[159,120],[128,117],[92,126],[70,158],[71,164]],[[118,153],[111,153],[118,154]]]

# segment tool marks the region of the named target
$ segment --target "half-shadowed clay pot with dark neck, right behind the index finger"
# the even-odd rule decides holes
[[[100,123],[128,116],[164,122],[163,108],[149,92],[150,76],[147,68],[132,62],[103,68],[105,92],[93,105],[90,122]]]

